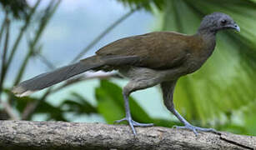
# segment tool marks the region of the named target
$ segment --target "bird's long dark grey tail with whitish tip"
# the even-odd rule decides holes
[[[46,72],[27,81],[21,82],[18,84],[18,86],[13,87],[12,92],[18,97],[28,96],[33,92],[50,87],[53,84],[62,82],[70,77],[102,65],[103,63],[98,61],[98,57],[88,57],[83,59],[83,61],[68,65],[66,67],[60,67],[52,72]]]

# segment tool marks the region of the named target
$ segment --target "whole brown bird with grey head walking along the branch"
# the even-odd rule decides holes
[[[88,70],[118,70],[130,80],[123,87],[126,116],[117,122],[127,121],[136,135],[134,127],[153,126],[132,119],[128,97],[132,92],[157,84],[161,85],[163,102],[170,112],[183,122],[183,127],[197,131],[214,132],[212,128],[199,128],[187,122],[174,108],[173,90],[178,78],[197,71],[211,56],[216,42],[216,33],[224,29],[235,29],[238,25],[224,13],[212,13],[203,18],[198,32],[186,35],[178,32],[150,32],[125,37],[102,47],[92,57],[77,63],[46,72],[13,87],[17,96],[27,96],[45,87],[62,82]]]

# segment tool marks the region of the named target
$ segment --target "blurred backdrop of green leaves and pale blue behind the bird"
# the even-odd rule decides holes
[[[93,55],[121,37],[153,31],[193,34],[203,16],[230,15],[241,32],[219,32],[213,56],[178,80],[174,103],[193,125],[256,135],[255,0],[8,0],[0,2],[0,119],[113,123],[124,117],[117,72],[87,72],[30,97],[11,88]],[[133,119],[173,127],[158,87],[133,93]]]

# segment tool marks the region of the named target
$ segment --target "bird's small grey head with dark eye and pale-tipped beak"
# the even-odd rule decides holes
[[[198,32],[213,32],[216,33],[223,29],[234,29],[240,32],[237,23],[233,21],[225,13],[211,13],[203,18],[203,21],[198,28]]]

